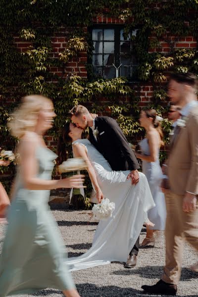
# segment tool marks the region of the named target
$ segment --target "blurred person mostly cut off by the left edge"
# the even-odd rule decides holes
[[[0,160],[0,166],[8,166],[9,161]],[[0,183],[0,223],[6,223],[6,212],[10,205],[9,198],[3,185]]]

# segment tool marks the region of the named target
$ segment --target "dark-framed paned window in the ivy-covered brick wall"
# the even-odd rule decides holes
[[[137,80],[138,62],[131,40],[131,35],[136,35],[137,30],[132,31],[127,38],[124,38],[123,32],[123,27],[118,25],[92,29],[92,66],[95,76],[107,79],[125,76]]]

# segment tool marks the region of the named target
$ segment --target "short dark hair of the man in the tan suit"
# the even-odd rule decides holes
[[[173,73],[171,74],[169,81],[171,80],[174,80],[179,84],[186,84],[195,88],[196,90],[198,89],[198,77],[191,72]]]

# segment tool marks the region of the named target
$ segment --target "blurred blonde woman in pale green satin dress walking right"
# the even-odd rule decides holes
[[[79,297],[64,264],[65,247],[48,200],[49,190],[80,188],[82,181],[79,176],[51,180],[57,155],[46,147],[43,135],[52,127],[54,117],[50,99],[31,95],[23,98],[9,122],[12,135],[20,140],[20,164],[0,258],[1,297],[45,288]]]

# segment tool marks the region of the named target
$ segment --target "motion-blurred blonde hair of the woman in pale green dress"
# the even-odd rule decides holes
[[[11,115],[12,119],[7,124],[14,137],[20,139],[26,131],[31,131],[36,126],[44,102],[52,103],[49,98],[42,95],[29,95],[22,98],[20,107]]]

